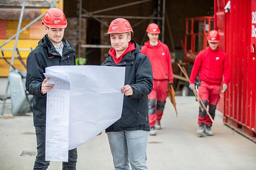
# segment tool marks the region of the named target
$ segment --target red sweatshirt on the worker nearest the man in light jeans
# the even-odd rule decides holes
[[[169,83],[173,83],[171,56],[166,44],[158,40],[158,44],[152,46],[147,41],[141,47],[141,53],[147,55],[151,61],[153,79],[169,80]]]

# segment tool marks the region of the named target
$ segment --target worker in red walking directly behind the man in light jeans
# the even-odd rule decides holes
[[[173,83],[171,56],[166,44],[158,40],[160,29],[151,23],[147,27],[149,41],[144,43],[141,53],[147,55],[152,64],[153,90],[148,95],[150,135],[156,135],[155,129],[161,129],[160,120],[168,96],[168,84]]]

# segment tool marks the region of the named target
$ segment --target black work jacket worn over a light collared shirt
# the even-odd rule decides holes
[[[65,38],[62,43],[64,46],[61,57],[46,34],[28,55],[26,89],[34,96],[34,126],[45,126],[46,123],[46,94],[43,95],[40,91],[45,79],[45,68],[54,65],[76,65],[75,49]]]

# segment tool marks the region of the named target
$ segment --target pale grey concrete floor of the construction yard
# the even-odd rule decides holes
[[[178,118],[167,100],[163,129],[148,137],[148,169],[256,170],[256,143],[223,125],[220,112],[212,128],[214,136],[198,137],[195,98],[178,96],[176,102]],[[32,114],[8,118],[9,109],[0,117],[0,170],[33,169],[36,138]],[[23,151],[32,156],[21,156]],[[48,169],[61,169],[61,162],[51,162]],[[78,147],[77,169],[114,169],[105,133]]]

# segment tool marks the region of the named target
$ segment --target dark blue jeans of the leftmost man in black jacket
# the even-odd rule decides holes
[[[34,170],[47,169],[50,161],[45,161],[45,126],[35,126],[37,155],[34,164]],[[77,150],[68,151],[68,162],[62,162],[62,170],[76,170]]]

